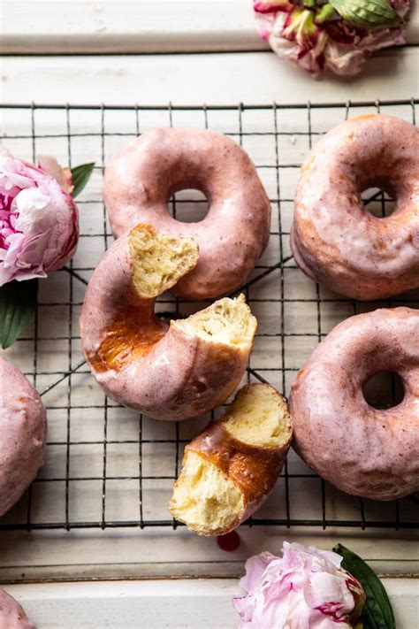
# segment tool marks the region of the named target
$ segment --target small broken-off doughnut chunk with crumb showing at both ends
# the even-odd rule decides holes
[[[225,415],[187,444],[169,503],[200,535],[223,535],[270,494],[292,437],[286,399],[267,384],[240,389]]]

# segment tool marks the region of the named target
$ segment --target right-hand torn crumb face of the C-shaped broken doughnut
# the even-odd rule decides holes
[[[219,299],[186,319],[172,321],[172,325],[188,336],[197,335],[205,341],[248,346],[253,341],[257,322],[244,295],[240,295],[237,299]]]

